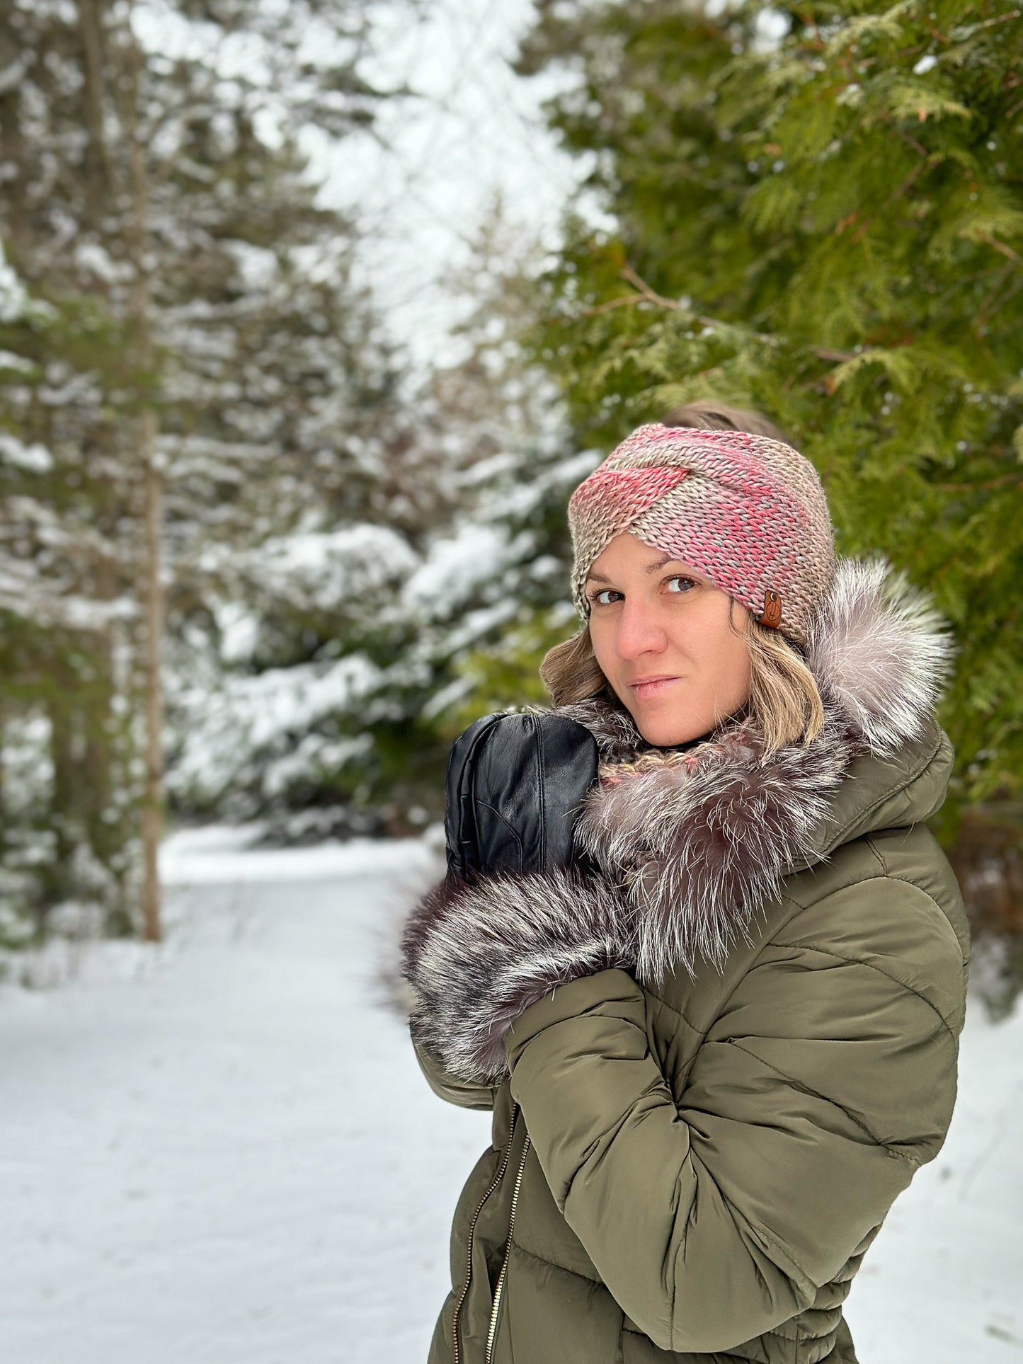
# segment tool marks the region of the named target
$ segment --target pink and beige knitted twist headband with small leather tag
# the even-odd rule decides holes
[[[623,531],[690,565],[797,644],[835,566],[817,471],[791,446],[743,431],[638,427],[576,488],[569,527],[584,618],[587,574]]]

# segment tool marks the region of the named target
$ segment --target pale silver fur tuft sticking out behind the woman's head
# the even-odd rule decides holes
[[[928,597],[884,561],[840,559],[806,662],[873,753],[917,739],[952,662]]]

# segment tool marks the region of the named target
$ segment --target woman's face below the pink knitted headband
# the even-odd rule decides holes
[[[596,660],[648,743],[697,739],[749,698],[749,612],[687,563],[623,532],[585,592]]]

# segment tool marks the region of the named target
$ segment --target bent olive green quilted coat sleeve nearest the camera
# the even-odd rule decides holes
[[[922,902],[933,962],[911,959],[922,978],[944,973],[953,1000],[962,958],[933,902],[877,884],[903,910]],[[761,952],[678,1094],[625,971],[559,988],[507,1034],[512,1093],[558,1207],[662,1349],[727,1350],[802,1311],[944,1140],[951,1011],[896,978],[885,951],[814,945],[857,892],[797,914]]]

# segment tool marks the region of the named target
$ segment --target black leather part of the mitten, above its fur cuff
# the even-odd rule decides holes
[[[578,861],[574,824],[597,780],[596,739],[562,715],[486,715],[447,761],[447,870],[551,872]]]

